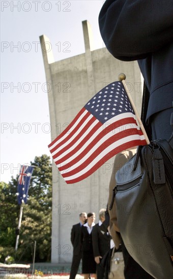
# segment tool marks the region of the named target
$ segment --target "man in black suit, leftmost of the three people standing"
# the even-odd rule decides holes
[[[80,243],[80,233],[81,226],[85,223],[87,215],[85,212],[79,214],[80,222],[76,225],[73,225],[71,230],[71,242],[73,245],[73,259],[70,271],[70,279],[75,279],[77,270],[81,260],[81,243]]]

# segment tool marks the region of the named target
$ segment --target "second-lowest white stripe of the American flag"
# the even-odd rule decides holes
[[[134,123],[129,123],[129,124],[131,125],[131,128],[132,128],[132,129],[137,128],[137,126],[136,126]],[[111,130],[109,133],[105,134],[105,136],[103,136],[103,137],[100,139],[100,141],[98,141],[97,144],[94,145],[94,146],[92,147],[92,149],[90,149],[90,151],[89,151],[87,154],[85,154],[84,157],[82,157],[79,161],[77,161],[75,164],[73,164],[73,165],[70,167],[70,171],[73,170],[73,169],[75,169],[76,167],[80,166],[83,162],[85,162],[85,161],[95,152],[95,150],[96,150],[97,148],[99,148],[104,142],[106,142],[112,135],[118,134],[118,133],[120,133],[120,131],[124,131],[124,130],[125,130],[125,126],[126,126],[126,125],[122,125],[122,126],[120,126],[120,127],[117,127],[116,129]],[[88,145],[89,145],[89,144],[87,143],[87,144],[85,145],[85,147],[88,146]],[[80,149],[80,151],[81,151],[81,149]],[[77,152],[77,153],[78,153],[78,152]],[[63,164],[57,165],[57,167],[60,167],[60,166],[62,166],[62,165],[65,165],[65,164],[71,162],[74,158],[77,157],[77,153],[75,153],[75,154],[74,154],[73,156],[71,156],[69,159],[67,159],[66,161],[64,161]],[[81,152],[80,152],[80,153],[81,153]],[[69,168],[69,166],[68,166],[68,168]],[[67,168],[67,169],[68,169],[68,168]],[[62,171],[60,171],[60,172],[63,173],[63,171],[64,171],[64,170],[62,170]]]

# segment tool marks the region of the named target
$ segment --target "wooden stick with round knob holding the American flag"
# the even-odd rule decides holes
[[[137,118],[137,121],[138,121],[138,123],[139,123],[139,125],[140,125],[140,129],[141,129],[141,131],[142,131],[142,133],[143,133],[143,136],[144,136],[145,139],[146,139],[147,144],[149,145],[149,144],[150,144],[150,141],[149,141],[148,135],[147,135],[146,130],[145,130],[145,128],[144,128],[144,126],[143,126],[143,124],[142,124],[142,121],[141,121],[141,119],[140,119],[140,117],[139,117],[139,114],[138,114],[138,112],[137,112],[137,109],[136,109],[136,107],[135,107],[135,104],[134,104],[134,102],[133,102],[133,99],[132,99],[132,97],[131,97],[131,95],[130,95],[130,92],[129,92],[129,90],[128,90],[128,87],[127,87],[127,85],[126,85],[126,83],[125,83],[125,79],[126,79],[126,75],[125,75],[125,74],[122,73],[122,74],[119,75],[119,81],[121,81],[121,82],[123,83],[123,85],[124,85],[124,88],[125,88],[126,93],[127,93],[128,97],[129,97],[130,103],[131,103],[131,105],[132,105],[133,111],[134,111],[135,116],[136,116],[136,118]]]

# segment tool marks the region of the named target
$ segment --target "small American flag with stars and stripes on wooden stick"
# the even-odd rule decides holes
[[[48,146],[67,184],[92,175],[117,153],[146,145],[122,82],[99,91]]]

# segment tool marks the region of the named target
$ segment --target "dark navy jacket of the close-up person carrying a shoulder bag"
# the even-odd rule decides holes
[[[152,140],[171,135],[173,101],[172,0],[107,0],[99,27],[108,51],[123,61],[138,60],[150,92],[146,123]]]

